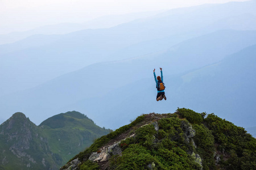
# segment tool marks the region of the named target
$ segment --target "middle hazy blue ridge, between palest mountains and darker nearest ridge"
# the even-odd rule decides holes
[[[90,117],[93,120],[106,127],[110,125],[106,125],[108,122],[104,122],[101,119],[105,113],[114,115],[119,111],[134,109],[132,113],[135,114],[140,112],[139,109],[135,108],[142,106],[146,108],[141,112],[151,112],[151,109],[156,108],[160,108],[156,112],[168,112],[166,107],[157,107],[158,104],[156,105],[155,103],[155,90],[152,90],[152,87],[153,89],[155,88],[154,80],[152,79],[152,70],[154,68],[157,69],[157,66],[162,66],[164,74],[170,75],[210,65],[213,62],[220,61],[226,55],[236,53],[248,45],[256,44],[255,36],[255,31],[218,31],[184,41],[169,50],[148,56],[90,65],[84,69],[60,76],[31,90],[3,96],[1,109],[5,113],[13,113],[14,111],[26,112],[36,121],[43,120],[56,112],[71,110],[74,107],[77,111],[82,111],[88,115],[92,114]],[[225,39],[223,39],[224,37]],[[171,80],[167,76],[168,79]],[[154,100],[141,100],[141,97],[135,97],[140,95],[141,92],[137,88],[133,90],[133,88],[137,87],[133,84],[134,82],[140,84],[143,92],[146,93],[141,96],[147,96],[147,99]],[[178,82],[182,81],[179,80]],[[177,88],[181,86],[177,82],[167,83],[176,84],[175,87]],[[134,87],[129,84],[133,84]],[[123,86],[129,88],[126,90]],[[173,88],[171,89],[174,90]],[[118,91],[118,94],[115,94],[115,91]],[[174,93],[174,91],[171,93]],[[148,96],[149,94],[151,96]],[[103,98],[101,99],[101,97]],[[73,105],[73,103],[76,104]],[[155,107],[147,107],[148,103]],[[97,104],[103,104],[104,106],[98,107]],[[126,104],[133,107],[127,107]],[[173,105],[174,109],[179,107],[179,104],[183,103]],[[40,112],[40,114],[34,116],[32,113],[35,111]],[[98,115],[102,116],[98,117]],[[137,115],[124,114],[123,120],[129,120],[129,118],[135,116]],[[118,127],[122,124],[123,122],[119,121],[115,125]],[[117,127],[111,126],[111,128]]]

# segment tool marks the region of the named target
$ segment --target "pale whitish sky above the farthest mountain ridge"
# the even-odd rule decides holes
[[[81,23],[104,15],[168,10],[230,0],[0,0],[0,34],[63,22]],[[245,1],[245,0],[237,0]],[[2,32],[1,32],[2,31]],[[24,30],[20,30],[24,31]]]

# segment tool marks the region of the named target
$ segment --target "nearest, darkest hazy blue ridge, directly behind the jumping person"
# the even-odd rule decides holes
[[[92,113],[98,124],[107,127],[113,125],[107,125],[110,117],[104,120],[100,118],[104,115],[118,116],[117,124],[121,125],[121,122],[127,124],[127,120],[141,113],[172,112],[177,107],[191,107],[199,112],[218,112],[221,117],[238,126],[254,126],[256,117],[250,109],[256,109],[253,104],[256,95],[255,47],[250,46],[221,62],[181,75],[170,76],[164,69],[166,101],[156,102],[155,82],[151,75],[150,79],[138,80],[110,91],[100,99],[84,99],[65,109],[85,109]],[[156,74],[159,75],[159,71]],[[100,107],[90,107],[96,104],[100,104]]]

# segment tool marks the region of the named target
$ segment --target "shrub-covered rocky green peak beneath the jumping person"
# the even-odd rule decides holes
[[[255,142],[243,128],[213,113],[178,108],[173,114],[139,116],[61,169],[250,169]]]

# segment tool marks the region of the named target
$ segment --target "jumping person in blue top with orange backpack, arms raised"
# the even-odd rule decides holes
[[[166,95],[164,95],[164,89],[166,87],[164,86],[164,83],[163,83],[163,71],[161,67],[160,67],[160,70],[161,70],[161,77],[158,76],[158,78],[156,78],[155,69],[154,69],[155,83],[156,83],[156,88],[158,89],[158,95],[156,96],[156,101],[163,100],[163,99],[166,100]]]

